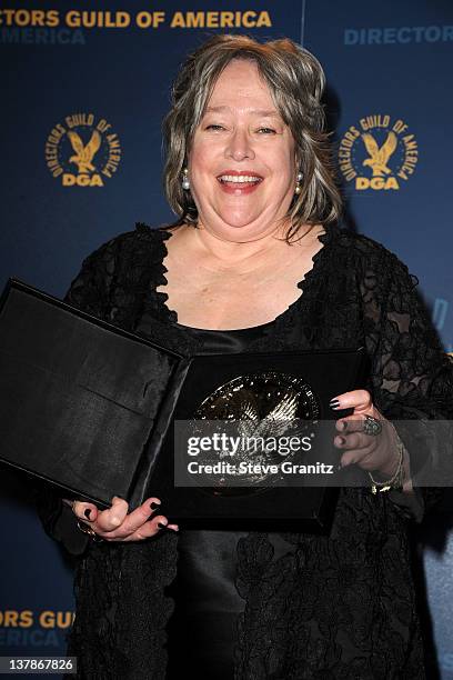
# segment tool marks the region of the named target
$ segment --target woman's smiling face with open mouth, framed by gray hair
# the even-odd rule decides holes
[[[229,241],[275,232],[294,196],[294,139],[253,61],[219,77],[189,154],[201,224]]]

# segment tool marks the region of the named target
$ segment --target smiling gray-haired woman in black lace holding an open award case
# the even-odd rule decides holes
[[[391,490],[342,489],[326,537],[178,532],[160,499],[130,513],[119,498],[104,511],[49,501],[48,531],[82,553],[81,678],[175,677],[178,660],[207,678],[425,677],[406,531],[431,496],[412,489],[410,446],[378,432],[449,418],[451,370],[406,268],[334,224],[323,87],[290,40],[198,49],[164,124],[178,223],[104,244],[67,300],[189,354],[364,344],[370,391],[332,396],[354,407],[334,442]]]

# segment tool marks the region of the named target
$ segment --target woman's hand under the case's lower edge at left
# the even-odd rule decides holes
[[[66,502],[71,504],[80,522],[84,522],[105,541],[141,541],[155,536],[163,528],[178,531],[178,524],[169,524],[163,514],[151,517],[155,506],[161,503],[159,498],[148,498],[129,514],[128,502],[118,496],[113,496],[112,507],[108,510],[99,510],[94,503],[84,501]]]

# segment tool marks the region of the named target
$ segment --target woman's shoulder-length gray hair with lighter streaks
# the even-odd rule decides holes
[[[197,224],[198,211],[181,186],[182,170],[217,79],[232,59],[256,63],[283,122],[295,141],[302,173],[301,192],[294,194],[286,218],[286,240],[303,224],[326,224],[341,214],[329,134],[321,97],[324,71],[315,57],[289,38],[260,43],[248,36],[219,34],[198,48],[182,64],[172,89],[172,108],[163,121],[165,149],[164,190],[177,224]]]

